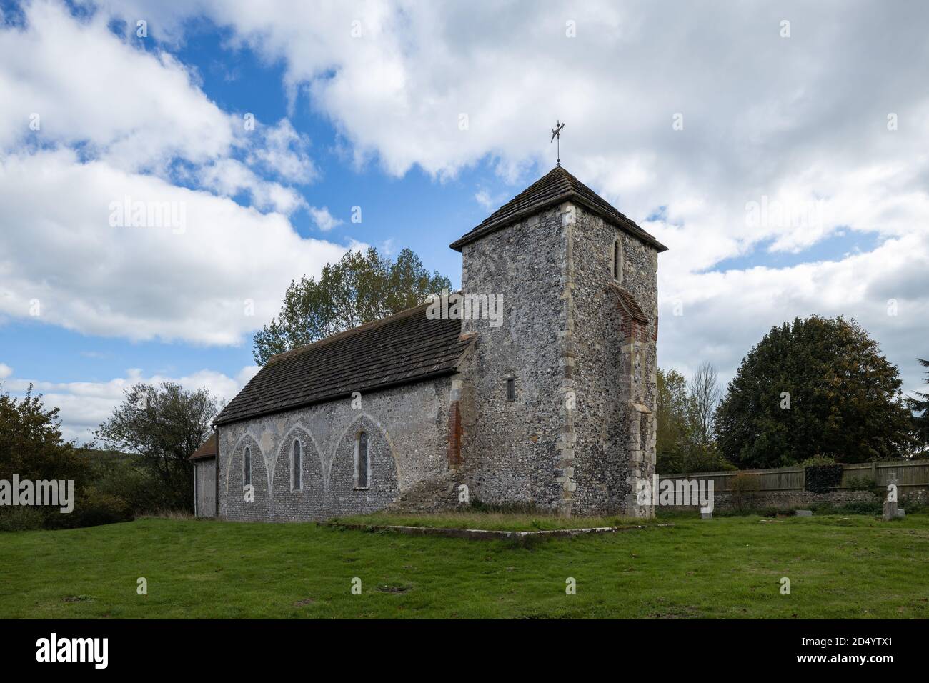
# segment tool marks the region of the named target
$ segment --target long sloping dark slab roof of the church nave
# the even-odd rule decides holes
[[[461,338],[461,321],[429,320],[427,307],[272,356],[216,416],[216,424],[453,373],[471,341]]]

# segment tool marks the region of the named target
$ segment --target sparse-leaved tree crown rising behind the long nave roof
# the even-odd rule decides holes
[[[373,247],[364,254],[349,251],[326,264],[319,281],[291,281],[278,317],[255,335],[252,354],[263,365],[277,353],[411,309],[443,289],[451,289],[449,279],[430,274],[409,249],[396,261]]]

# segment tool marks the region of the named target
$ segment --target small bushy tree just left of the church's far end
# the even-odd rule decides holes
[[[193,510],[193,466],[188,458],[212,432],[216,399],[206,388],[174,382],[138,383],[97,429],[109,448],[142,456],[161,483],[160,506]]]

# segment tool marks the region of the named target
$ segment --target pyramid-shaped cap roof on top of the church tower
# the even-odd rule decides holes
[[[516,197],[494,211],[477,228],[452,242],[451,248],[461,251],[464,244],[474,242],[489,232],[500,230],[544,208],[569,200],[581,204],[584,208],[593,211],[597,216],[608,220],[621,230],[635,235],[644,243],[651,244],[660,252],[666,251],[668,248],[648,232],[635,225],[632,220],[623,216],[594,190],[588,188],[561,166],[556,166],[532,183],[526,190],[519,192]]]

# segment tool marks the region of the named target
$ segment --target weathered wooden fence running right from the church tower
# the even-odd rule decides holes
[[[876,486],[884,488],[896,483],[900,493],[909,493],[916,489],[929,491],[929,460],[914,462],[858,463],[843,465],[842,483],[839,491],[852,489],[857,479],[871,479]],[[732,491],[732,481],[739,474],[757,475],[759,491],[804,491],[805,469],[800,466],[778,467],[776,469],[742,469],[726,472],[695,472],[693,474],[662,474],[660,479],[713,479],[716,493]]]

